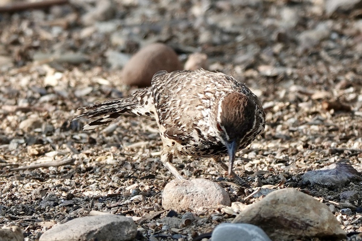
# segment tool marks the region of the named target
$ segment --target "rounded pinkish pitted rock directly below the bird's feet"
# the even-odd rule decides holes
[[[162,194],[162,206],[177,211],[216,205],[230,206],[230,197],[216,182],[206,179],[174,180]]]

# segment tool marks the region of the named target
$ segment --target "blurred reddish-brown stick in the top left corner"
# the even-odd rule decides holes
[[[43,0],[43,1],[21,1],[5,6],[0,6],[0,12],[13,13],[30,9],[47,8],[52,5],[61,5],[69,3],[68,0]]]

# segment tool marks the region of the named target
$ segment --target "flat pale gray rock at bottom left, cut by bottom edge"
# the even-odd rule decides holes
[[[100,215],[76,218],[56,225],[40,236],[39,241],[122,241],[137,234],[134,221],[125,216]]]

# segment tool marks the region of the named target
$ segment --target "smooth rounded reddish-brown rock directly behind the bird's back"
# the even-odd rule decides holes
[[[162,43],[153,43],[138,51],[122,70],[122,84],[146,87],[151,85],[153,75],[166,70],[181,70],[176,52]]]

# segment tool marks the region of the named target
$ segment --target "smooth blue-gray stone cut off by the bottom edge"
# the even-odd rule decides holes
[[[211,241],[271,241],[259,227],[248,223],[222,223],[212,232]]]

